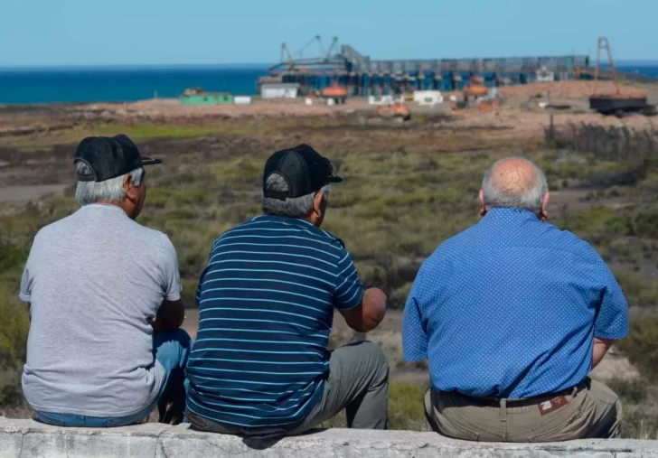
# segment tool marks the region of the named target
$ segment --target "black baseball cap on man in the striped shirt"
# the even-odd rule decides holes
[[[277,173],[286,180],[287,192],[266,189],[269,175]],[[330,182],[342,182],[343,178],[334,175],[334,166],[309,145],[277,151],[269,156],[263,173],[263,194],[270,199],[285,201],[320,191]]]

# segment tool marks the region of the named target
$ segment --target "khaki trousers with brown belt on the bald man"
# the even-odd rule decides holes
[[[465,397],[428,389],[428,423],[440,435],[484,442],[559,442],[618,437],[619,398],[587,379],[567,393],[533,399]]]

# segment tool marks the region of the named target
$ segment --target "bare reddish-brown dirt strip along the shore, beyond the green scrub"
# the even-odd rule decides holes
[[[609,81],[599,82],[597,91],[614,93],[616,87]],[[499,88],[501,107],[493,112],[480,113],[477,109],[452,111],[447,102],[435,107],[420,107],[410,104],[412,117],[454,117],[455,126],[499,126],[527,134],[535,133],[546,126],[550,110],[540,108],[540,101],[556,101],[571,108],[554,110],[555,122],[560,124],[596,123],[605,126],[625,124],[638,129],[653,126],[652,118],[629,116],[624,119],[603,117],[588,109],[587,97],[593,93],[590,81],[559,81],[533,83],[522,86]],[[628,95],[648,95],[650,103],[658,103],[658,90],[654,87],[622,86],[621,92]],[[458,93],[455,93],[461,97]],[[453,93],[447,92],[445,98]],[[360,114],[373,116],[376,107],[366,98],[350,98],[346,104],[327,106],[322,99],[314,99],[306,106],[302,98],[278,101],[257,99],[251,105],[186,106],[175,98],[157,98],[132,103],[98,104],[52,104],[32,107],[0,107],[0,138],[10,135],[30,135],[34,132],[61,130],[89,121],[122,122],[177,122],[213,118],[240,117],[316,117]]]

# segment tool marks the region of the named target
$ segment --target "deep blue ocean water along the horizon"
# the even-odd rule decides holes
[[[617,66],[619,71],[658,78],[658,63],[637,62]],[[123,102],[175,98],[187,88],[226,91],[234,95],[256,93],[258,77],[266,66],[171,67],[99,69],[0,69],[0,104],[53,102]]]

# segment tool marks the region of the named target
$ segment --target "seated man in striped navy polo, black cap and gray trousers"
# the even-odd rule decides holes
[[[197,428],[248,437],[304,432],[346,410],[349,427],[387,426],[389,367],[374,343],[327,351],[334,307],[357,332],[386,312],[343,242],[319,229],[331,163],[308,145],[273,154],[264,215],[211,249],[197,290],[199,332],[187,366]]]

